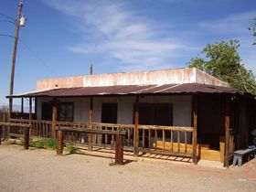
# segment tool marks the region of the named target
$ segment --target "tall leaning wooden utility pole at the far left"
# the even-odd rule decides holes
[[[16,47],[17,47],[18,32],[19,32],[19,27],[20,27],[20,16],[21,16],[21,11],[22,11],[22,6],[23,6],[23,0],[19,0],[17,17],[16,17],[16,36],[15,36],[15,43],[14,43],[9,95],[12,95],[14,92],[14,79],[15,79],[15,69],[16,69]],[[9,98],[9,112],[8,112],[9,118],[11,118],[12,112],[13,112],[13,98],[10,97]]]

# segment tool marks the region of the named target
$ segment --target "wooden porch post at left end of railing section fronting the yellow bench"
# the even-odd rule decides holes
[[[136,95],[134,112],[133,155],[139,155],[139,95]]]

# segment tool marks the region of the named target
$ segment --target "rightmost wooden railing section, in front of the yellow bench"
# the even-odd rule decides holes
[[[139,151],[191,157],[193,127],[139,125]]]

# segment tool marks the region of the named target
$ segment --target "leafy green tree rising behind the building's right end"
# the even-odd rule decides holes
[[[205,57],[191,59],[188,66],[202,69],[240,91],[256,94],[255,76],[241,63],[239,47],[238,40],[208,44],[201,52]]]

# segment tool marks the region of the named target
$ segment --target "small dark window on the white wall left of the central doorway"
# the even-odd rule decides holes
[[[73,122],[74,120],[74,103],[61,102],[59,103],[59,121],[60,122]]]

